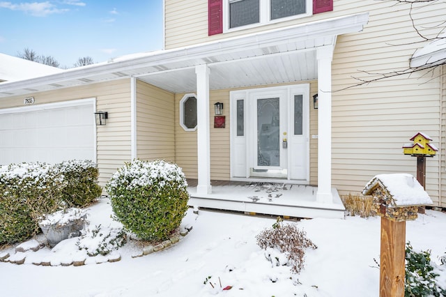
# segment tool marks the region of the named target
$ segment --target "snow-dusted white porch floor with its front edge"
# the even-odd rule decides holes
[[[190,206],[293,218],[344,218],[344,204],[335,188],[333,202],[316,201],[317,187],[291,183],[211,181],[212,193],[197,195],[197,180],[187,179]]]

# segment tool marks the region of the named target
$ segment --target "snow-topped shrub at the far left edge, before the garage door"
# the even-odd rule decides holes
[[[45,163],[0,167],[0,244],[38,233],[38,220],[61,206],[63,178]]]

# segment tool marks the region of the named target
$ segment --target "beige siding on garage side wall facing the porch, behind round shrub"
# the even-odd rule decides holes
[[[137,80],[137,157],[175,162],[174,94]]]

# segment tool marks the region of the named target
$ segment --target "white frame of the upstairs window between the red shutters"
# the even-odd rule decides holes
[[[240,0],[238,0],[240,1]],[[251,28],[256,28],[258,26],[265,26],[268,24],[276,24],[278,22],[286,22],[289,20],[297,20],[301,19],[303,17],[311,17],[313,15],[313,1],[311,0],[305,0],[306,7],[307,7],[307,13],[300,13],[299,15],[290,15],[289,17],[279,17],[276,20],[270,20],[270,0],[259,0],[259,9],[260,9],[260,16],[259,16],[259,22],[255,24],[247,24],[245,26],[237,26],[235,28],[229,27],[229,2],[231,0],[224,0],[223,1],[223,33],[229,33],[233,31],[240,31],[240,30],[246,30]],[[233,1],[236,2],[236,1]]]

